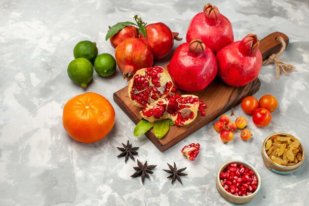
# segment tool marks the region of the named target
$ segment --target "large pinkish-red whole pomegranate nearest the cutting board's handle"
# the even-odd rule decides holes
[[[260,41],[248,34],[242,41],[235,41],[217,53],[218,75],[231,86],[243,86],[254,81],[262,67]]]

